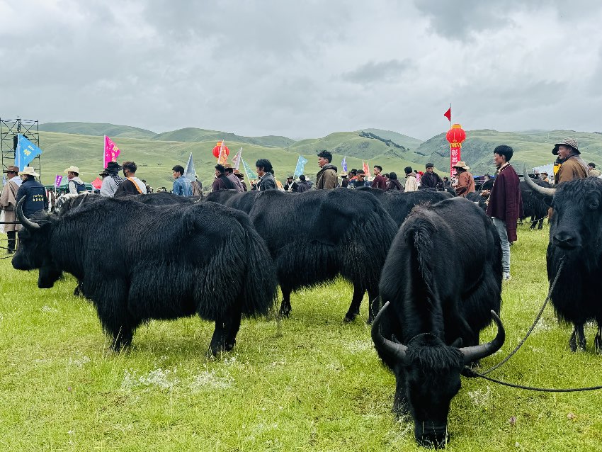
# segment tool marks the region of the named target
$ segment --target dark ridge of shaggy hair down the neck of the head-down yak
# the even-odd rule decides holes
[[[414,210],[414,213],[406,221],[405,241],[411,247],[411,268],[414,281],[422,281],[421,290],[426,292],[426,300],[432,307],[436,307],[436,287],[433,284],[433,273],[429,263],[432,263],[436,250],[433,249],[433,234],[437,227],[429,218],[428,212]],[[417,264],[417,266],[416,266]],[[416,274],[418,273],[418,274]]]

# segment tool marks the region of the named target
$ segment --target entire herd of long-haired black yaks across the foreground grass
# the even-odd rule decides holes
[[[552,281],[564,256],[552,303],[574,324],[570,346],[584,349],[584,323],[596,320],[599,351],[602,180],[552,189],[526,179],[554,209],[547,271]],[[465,366],[504,344],[499,237],[478,203],[447,192],[81,194],[30,218],[19,203],[17,215],[24,227],[14,268],[39,269],[40,288],[74,275],[115,349],[143,322],[197,314],[215,322],[209,351],[217,355],[234,347],[243,316],[273,308],[278,286],[286,317],[293,291],[342,276],[353,284],[347,321],[368,293],[375,349],[397,380],[394,412],[411,414],[424,446],[446,443]],[[453,265],[437,258],[441,250]],[[492,320],[496,337],[480,344]]]

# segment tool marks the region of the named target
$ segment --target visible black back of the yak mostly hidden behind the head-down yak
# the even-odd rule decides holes
[[[401,226],[415,205],[434,204],[441,200],[452,198],[446,191],[419,190],[419,191],[382,191],[378,188],[362,187],[356,191],[363,191],[375,196],[382,207],[391,215],[397,226]]]

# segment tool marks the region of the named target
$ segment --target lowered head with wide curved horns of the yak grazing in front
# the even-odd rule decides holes
[[[382,307],[373,322],[372,339],[377,350],[395,363],[397,392],[401,392],[395,394],[395,401],[407,402],[414,419],[414,436],[421,446],[444,447],[449,437],[450,402],[460,390],[460,372],[465,365],[499,350],[506,339],[504,326],[492,311],[498,331],[487,344],[458,348],[460,340],[448,346],[433,334],[425,333],[404,345],[395,337],[387,339],[380,334],[380,319],[388,305],[389,302]]]

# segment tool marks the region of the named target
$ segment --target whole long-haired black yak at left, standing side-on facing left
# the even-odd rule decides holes
[[[40,269],[40,288],[52,287],[63,271],[83,281],[114,349],[129,345],[143,322],[196,313],[215,321],[216,355],[234,346],[242,315],[264,315],[276,300],[266,244],[237,210],[100,198],[29,219],[22,201],[13,267]]]

